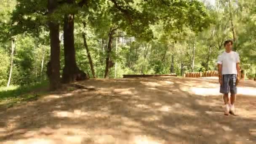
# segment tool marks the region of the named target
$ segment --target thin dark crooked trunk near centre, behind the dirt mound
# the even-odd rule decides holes
[[[112,39],[116,29],[110,28],[109,32],[109,43],[107,45],[107,58],[104,78],[109,78],[109,69],[114,66],[114,63],[111,61],[110,55],[112,52]]]

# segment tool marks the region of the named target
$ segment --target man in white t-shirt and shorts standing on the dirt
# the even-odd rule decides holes
[[[219,84],[220,93],[223,93],[225,104],[224,115],[235,115],[235,97],[237,93],[237,83],[239,82],[239,63],[240,58],[238,53],[232,51],[232,40],[227,40],[224,43],[226,51],[218,57],[219,68]],[[228,94],[231,93],[230,101]]]

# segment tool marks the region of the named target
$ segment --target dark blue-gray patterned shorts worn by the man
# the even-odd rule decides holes
[[[220,93],[227,94],[237,94],[237,87],[235,82],[237,80],[237,75],[222,75],[222,85],[220,86]]]

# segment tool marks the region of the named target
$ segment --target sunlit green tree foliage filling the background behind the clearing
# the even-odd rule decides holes
[[[16,1],[19,4],[16,5]],[[85,33],[96,76],[102,78],[109,32],[115,28],[111,60],[117,67],[110,69],[110,78],[114,78],[115,73],[116,77],[168,74],[172,58],[176,74],[181,75],[181,66],[183,73],[191,72],[194,43],[194,70],[215,70],[217,56],[224,51],[224,41],[232,39],[229,12],[235,26],[237,40],[234,46],[240,54],[241,66],[246,69],[255,67],[255,0],[239,1],[232,8],[225,5],[225,0],[218,0],[211,6],[199,0],[91,0],[83,7],[78,5],[80,0],[75,1],[76,4],[59,1],[51,15],[48,15],[47,0],[35,3],[3,0],[4,3],[0,3],[1,86],[6,85],[10,72],[11,37],[16,38],[11,84],[27,85],[46,80],[46,63],[50,56],[47,21],[58,22],[62,27],[67,13],[75,14],[77,66],[90,77],[91,68],[82,34]],[[60,34],[63,36],[63,32]],[[64,67],[62,40],[61,68]],[[254,73],[250,70],[250,75]]]

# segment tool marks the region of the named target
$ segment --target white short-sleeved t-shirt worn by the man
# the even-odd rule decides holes
[[[222,75],[237,74],[236,64],[240,62],[239,54],[235,51],[224,51],[218,56],[218,64],[222,64]]]

